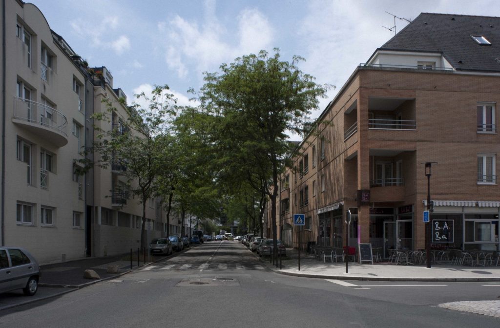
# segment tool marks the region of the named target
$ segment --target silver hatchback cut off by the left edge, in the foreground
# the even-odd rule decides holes
[[[0,247],[0,293],[22,289],[26,296],[38,290],[40,267],[35,258],[19,247]]]

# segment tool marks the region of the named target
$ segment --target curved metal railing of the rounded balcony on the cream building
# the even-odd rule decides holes
[[[67,119],[61,112],[45,104],[14,97],[14,118],[40,124],[67,138]]]

